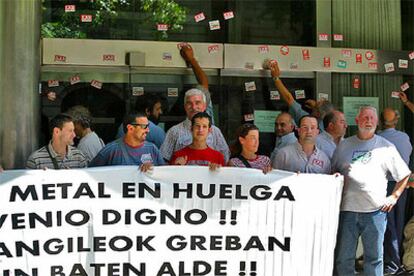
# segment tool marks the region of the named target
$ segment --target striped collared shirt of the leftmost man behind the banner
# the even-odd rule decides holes
[[[50,155],[47,151],[49,148]],[[87,160],[85,155],[75,147],[68,146],[65,156],[58,155],[52,147],[52,141],[47,146],[33,152],[26,162],[27,169],[54,169],[53,159],[56,160],[58,169],[85,168]]]

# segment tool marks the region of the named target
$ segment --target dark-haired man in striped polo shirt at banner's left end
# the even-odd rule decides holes
[[[85,168],[87,161],[83,153],[73,147],[75,126],[67,114],[58,114],[50,121],[52,140],[33,152],[26,162],[27,169],[74,169]]]

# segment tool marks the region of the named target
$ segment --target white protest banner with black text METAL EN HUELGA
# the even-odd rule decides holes
[[[0,173],[0,275],[332,275],[342,177],[135,166]]]

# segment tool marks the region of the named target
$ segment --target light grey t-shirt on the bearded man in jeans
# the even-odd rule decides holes
[[[369,140],[356,135],[344,139],[335,150],[332,169],[344,175],[341,211],[362,213],[384,206],[387,173],[397,182],[411,173],[395,146],[378,135]]]

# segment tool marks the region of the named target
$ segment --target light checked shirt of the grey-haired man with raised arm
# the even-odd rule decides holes
[[[187,118],[168,130],[160,151],[164,159],[170,160],[174,152],[185,148],[192,142],[191,121]],[[224,155],[225,162],[228,162],[230,157],[229,146],[218,127],[211,126],[211,132],[207,136],[207,145],[221,152]]]

